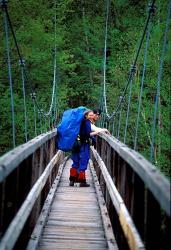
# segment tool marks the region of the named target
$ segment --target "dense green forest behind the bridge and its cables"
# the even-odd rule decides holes
[[[2,1],[0,1],[2,2]],[[150,160],[154,133],[153,120],[156,94],[155,143],[153,163],[167,177],[170,171],[170,59],[171,31],[168,20],[168,0],[155,1],[155,11],[149,24],[149,46],[139,119],[137,151]],[[1,4],[2,5],[2,4]],[[13,34],[8,23],[12,85],[14,92],[14,120],[16,146],[24,143],[25,115],[27,140],[52,128],[64,110],[78,106],[103,110],[101,126],[124,141],[125,120],[130,86],[123,105],[113,119],[105,119],[103,109],[104,44],[106,45],[106,103],[112,114],[127,82],[149,13],[147,0],[9,0],[8,13],[22,59],[27,68],[25,106],[23,105],[22,67]],[[166,24],[169,25],[165,34]],[[11,89],[6,45],[5,11],[0,10],[0,155],[13,148]],[[163,65],[161,66],[164,37]],[[143,75],[146,37],[142,43],[132,81],[131,105],[125,143],[134,147],[141,79]],[[40,109],[49,110],[56,63],[55,106],[50,117],[41,116]],[[160,75],[159,75],[160,73]],[[161,76],[160,86],[158,86]],[[31,98],[32,90],[36,99]],[[158,91],[158,92],[157,92]],[[55,118],[54,118],[55,116]],[[35,131],[35,119],[36,129]],[[118,134],[118,126],[120,132]]]

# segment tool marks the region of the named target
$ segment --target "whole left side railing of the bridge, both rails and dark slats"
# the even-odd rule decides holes
[[[25,249],[64,154],[56,131],[42,134],[0,158],[0,249]]]

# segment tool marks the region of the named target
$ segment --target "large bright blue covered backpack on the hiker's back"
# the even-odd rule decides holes
[[[57,149],[65,152],[72,150],[80,132],[85,111],[85,107],[78,107],[63,113],[61,124],[57,127]]]

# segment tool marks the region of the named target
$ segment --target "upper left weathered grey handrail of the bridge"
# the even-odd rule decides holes
[[[56,135],[56,129],[41,134],[34,139],[22,144],[9,151],[0,158],[0,183],[15,169],[18,165],[35,152],[41,145]]]

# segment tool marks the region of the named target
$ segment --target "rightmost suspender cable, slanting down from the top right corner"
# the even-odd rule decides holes
[[[150,149],[150,161],[153,162],[154,157],[154,144],[156,140],[156,120],[157,120],[157,111],[158,111],[158,101],[160,98],[160,82],[162,78],[163,73],[163,63],[164,63],[164,54],[166,49],[166,40],[167,40],[167,34],[169,29],[169,19],[171,16],[171,0],[169,1],[168,5],[168,13],[167,13],[167,19],[166,19],[166,27],[164,32],[164,40],[163,40],[163,47],[160,57],[160,66],[159,66],[159,72],[158,72],[158,78],[157,78],[157,92],[156,92],[156,98],[155,98],[155,104],[154,104],[154,117],[153,117],[153,127],[152,127],[152,144]]]

